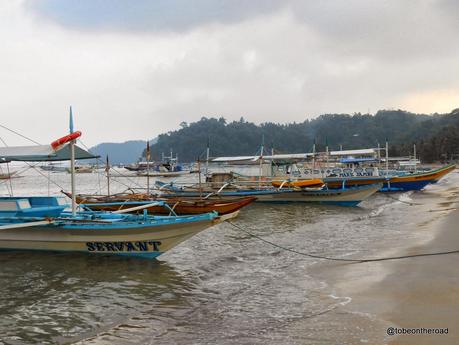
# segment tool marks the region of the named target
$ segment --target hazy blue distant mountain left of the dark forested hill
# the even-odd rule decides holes
[[[150,141],[156,143],[157,139]],[[139,160],[145,149],[144,140],[130,140],[124,143],[101,143],[90,148],[90,151],[105,161],[108,155],[111,164],[131,164]]]

